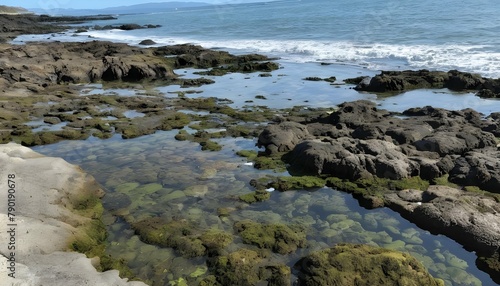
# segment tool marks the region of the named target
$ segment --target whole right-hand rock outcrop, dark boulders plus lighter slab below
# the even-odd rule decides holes
[[[500,225],[491,223],[500,219],[499,122],[470,109],[429,106],[394,115],[368,101],[347,102],[300,124],[270,125],[258,144],[269,154],[287,146],[281,151],[291,150],[284,158],[296,175],[332,177],[327,185],[368,198],[371,207],[389,206],[424,229],[490,255],[500,247]],[[436,183],[443,176],[445,184],[457,185],[407,190],[413,178]]]

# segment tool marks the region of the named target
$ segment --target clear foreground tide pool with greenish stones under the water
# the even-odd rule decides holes
[[[142,278],[171,281],[204,273],[205,261],[182,258],[172,249],[142,243],[123,219],[110,216],[113,210],[118,209],[129,222],[168,213],[203,229],[231,233],[234,222],[242,219],[300,223],[308,228],[308,247],[291,255],[276,254],[272,260],[293,265],[303,255],[338,242],[367,243],[411,253],[446,285],[494,284],[477,270],[475,255],[454,241],[420,230],[389,209],[363,209],[350,195],[330,188],[275,191],[269,201],[240,203],[234,197],[252,191],[251,179],[279,175],[256,170],[235,155],[237,150],[255,148],[255,142],[221,139],[216,141],[223,145],[222,151],[202,152],[196,143],[176,141],[176,133],[157,132],[130,140],[90,138],[34,148],[80,165],[105,186],[108,251],[113,257],[127,259]],[[118,193],[129,196],[132,203],[122,208]],[[219,207],[235,210],[229,217],[219,218]],[[241,247],[248,246],[238,239],[228,246],[232,250]]]

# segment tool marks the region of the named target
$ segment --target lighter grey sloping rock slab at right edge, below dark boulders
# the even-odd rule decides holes
[[[500,203],[448,186],[386,194],[386,205],[419,227],[453,238],[480,255],[500,248]]]

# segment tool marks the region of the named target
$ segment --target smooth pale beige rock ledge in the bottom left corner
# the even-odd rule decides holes
[[[2,285],[146,285],[127,282],[117,270],[98,272],[97,259],[68,252],[68,245],[91,218],[69,207],[82,194],[102,196],[94,178],[60,158],[29,148],[0,145],[0,281]],[[7,209],[8,178],[15,175],[15,249]],[[12,177],[12,176],[11,176]],[[12,183],[12,182],[11,182]],[[9,277],[15,253],[15,278]],[[12,269],[14,270],[14,269]]]

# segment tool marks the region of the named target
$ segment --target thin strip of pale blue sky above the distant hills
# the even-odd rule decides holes
[[[260,2],[259,0],[175,0],[177,2],[206,2],[212,4],[237,4],[246,2]],[[93,9],[116,6],[127,6],[149,2],[173,2],[162,0],[2,0],[1,5],[24,8],[42,9]]]

